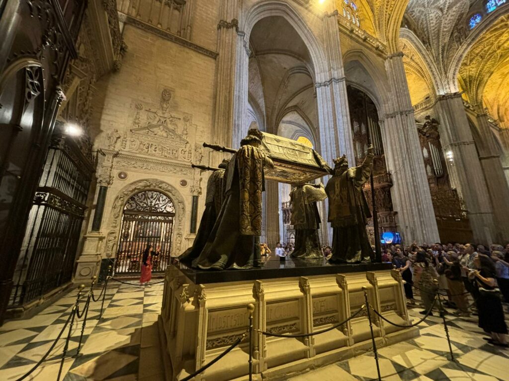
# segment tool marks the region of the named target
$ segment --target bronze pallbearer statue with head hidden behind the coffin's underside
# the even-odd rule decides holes
[[[291,257],[322,259],[318,229],[320,214],[317,201],[327,198],[323,184],[300,184],[290,193],[292,203],[291,224],[295,229],[295,248]]]

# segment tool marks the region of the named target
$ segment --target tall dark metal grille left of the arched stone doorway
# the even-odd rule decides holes
[[[11,306],[31,302],[72,280],[93,168],[71,158],[69,147],[64,142],[48,151],[13,277]]]

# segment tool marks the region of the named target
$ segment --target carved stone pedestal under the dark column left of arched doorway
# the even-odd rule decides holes
[[[90,282],[92,276],[99,274],[104,235],[90,232],[84,238],[83,252],[76,261],[75,283]]]

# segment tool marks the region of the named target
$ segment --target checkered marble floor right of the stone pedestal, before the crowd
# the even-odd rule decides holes
[[[509,309],[505,317],[509,326]],[[409,309],[414,321],[422,318],[422,308]],[[507,381],[509,348],[483,340],[477,316],[452,315],[447,309],[447,326],[455,362],[449,360],[449,347],[438,312],[419,324],[420,337],[379,348],[378,358],[383,381]],[[368,353],[290,378],[290,381],[368,381],[377,380],[375,356]]]

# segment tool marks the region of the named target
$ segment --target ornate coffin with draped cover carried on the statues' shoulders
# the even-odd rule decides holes
[[[301,184],[329,174],[330,167],[313,148],[277,135],[262,132],[261,148],[272,158],[274,168],[265,168],[265,178]]]

